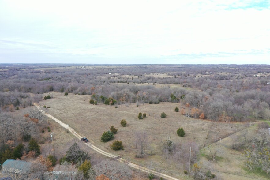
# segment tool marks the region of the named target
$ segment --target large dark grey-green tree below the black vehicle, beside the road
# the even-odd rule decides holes
[[[70,163],[83,162],[85,160],[89,160],[90,158],[91,157],[88,155],[88,153],[81,150],[76,142],[69,147],[65,156],[65,160]]]

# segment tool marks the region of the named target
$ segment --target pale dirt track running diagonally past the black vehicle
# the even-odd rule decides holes
[[[60,124],[62,127],[66,128],[66,129],[68,129],[75,137],[77,137],[78,139],[81,140],[82,136],[79,133],[77,133],[74,129],[72,129],[71,127],[69,127],[69,125],[63,123],[62,121],[58,120],[57,118],[54,118],[52,115],[46,113],[36,103],[33,103],[33,104],[38,108],[39,111],[43,112],[45,116],[47,116],[47,117],[51,118],[52,120],[58,122],[58,124]],[[87,146],[89,146],[90,148],[92,148],[93,150],[95,150],[96,152],[99,152],[100,154],[103,154],[103,155],[105,155],[107,157],[110,157],[110,158],[116,158],[116,157],[118,157],[118,156],[115,156],[115,155],[113,155],[111,153],[105,152],[105,151],[97,148],[96,146],[94,146],[90,142],[89,143],[85,143],[85,144]],[[155,174],[155,175],[157,175],[159,177],[162,177],[164,179],[168,179],[168,180],[179,180],[179,179],[174,178],[174,177],[171,177],[171,176],[169,176],[167,174],[162,174],[162,173],[159,173],[157,171],[153,171],[151,169],[148,169],[146,167],[139,166],[139,165],[134,164],[134,163],[132,163],[130,161],[127,161],[127,160],[125,160],[123,158],[119,158],[117,160],[120,161],[121,163],[124,163],[127,166],[133,167],[133,168],[138,169],[140,171],[144,171],[144,172],[147,172],[147,173],[152,172],[152,174]]]

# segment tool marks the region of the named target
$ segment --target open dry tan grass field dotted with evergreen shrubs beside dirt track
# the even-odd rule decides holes
[[[48,94],[53,96],[53,98],[39,102],[39,106],[49,106],[49,109],[46,108],[49,114],[69,124],[75,131],[87,137],[89,141],[100,149],[180,179],[189,179],[190,177],[184,175],[183,171],[185,168],[183,164],[165,158],[162,141],[165,141],[166,137],[170,136],[171,140],[176,143],[195,141],[200,148],[203,148],[205,145],[213,143],[215,137],[220,137],[223,143],[231,144],[231,139],[226,140],[226,137],[229,138],[228,136],[245,129],[244,124],[241,123],[211,122],[185,117],[180,112],[174,112],[176,106],[182,107],[181,103],[141,104],[138,107],[136,104],[127,104],[118,105],[118,108],[115,108],[114,106],[104,104],[90,104],[91,96],[88,95],[69,94],[64,96],[64,93],[52,92]],[[147,117],[139,120],[137,118],[139,112],[146,113]],[[167,114],[166,118],[160,117],[162,112]],[[126,127],[120,125],[122,119],[126,119]],[[125,148],[123,151],[111,150],[109,145],[114,140],[106,143],[100,141],[102,133],[110,130],[112,125],[118,128],[118,133],[114,135],[114,140],[123,142]],[[183,138],[178,137],[176,134],[176,130],[179,127],[183,127],[186,132]],[[61,134],[64,134],[65,139],[66,137],[70,138],[70,142],[78,141],[70,133],[67,133],[66,130],[61,131],[61,128],[55,129],[54,132],[61,132]],[[135,157],[136,138],[134,134],[137,131],[146,131],[148,134],[149,145],[146,150],[148,156],[144,158]],[[61,139],[63,135],[59,133],[59,137],[57,136],[57,134],[54,135],[56,139]],[[65,149],[69,141],[64,143],[58,141],[59,144],[57,146],[60,149]],[[218,143],[213,144],[213,147]],[[209,155],[208,150],[201,149],[201,155],[198,158],[206,163],[207,166],[212,166],[216,170],[214,173],[221,179],[222,177],[226,179],[225,177],[228,174],[232,179],[248,179],[249,176],[245,175],[247,172],[243,169],[242,152],[231,150],[231,148],[227,147],[229,145],[226,147],[222,146],[223,154],[220,155],[222,158],[217,164],[210,163],[209,159],[205,157]],[[62,152],[65,152],[65,150]],[[236,161],[235,159],[239,160]],[[235,168],[233,168],[233,171],[229,171],[232,166]]]

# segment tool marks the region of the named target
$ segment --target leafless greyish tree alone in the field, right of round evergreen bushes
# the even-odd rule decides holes
[[[141,158],[145,155],[145,149],[148,147],[148,135],[145,131],[135,133],[135,148],[137,150],[136,157]]]

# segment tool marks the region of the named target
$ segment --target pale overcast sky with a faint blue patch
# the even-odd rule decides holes
[[[270,64],[269,0],[0,0],[0,63]]]

